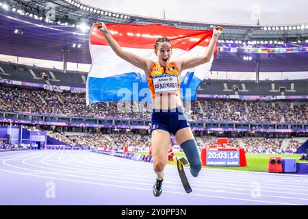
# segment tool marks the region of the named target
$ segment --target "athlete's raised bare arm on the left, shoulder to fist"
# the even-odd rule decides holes
[[[101,31],[104,34],[107,42],[110,44],[110,47],[112,48],[114,53],[116,53],[116,55],[123,58],[123,60],[126,60],[127,62],[133,64],[134,66],[143,69],[146,74],[149,73],[149,71],[151,70],[150,68],[154,63],[152,60],[146,59],[129,51],[125,51],[124,49],[122,49],[122,47],[120,47],[118,42],[114,40],[114,38],[108,31],[105,23],[97,23],[97,24],[99,31]]]

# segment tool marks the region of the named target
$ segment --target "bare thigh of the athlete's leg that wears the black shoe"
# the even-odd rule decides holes
[[[151,136],[153,161],[168,162],[170,133],[162,129],[155,129]]]

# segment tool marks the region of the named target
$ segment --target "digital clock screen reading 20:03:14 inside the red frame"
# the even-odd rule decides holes
[[[207,166],[240,166],[240,151],[207,151]]]

